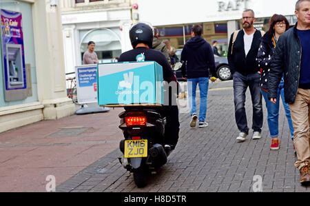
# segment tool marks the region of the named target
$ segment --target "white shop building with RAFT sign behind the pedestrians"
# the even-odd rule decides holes
[[[159,29],[162,39],[169,39],[174,48],[183,48],[190,39],[194,24],[203,26],[203,37],[217,40],[219,52],[227,55],[228,41],[235,30],[242,28],[242,12],[253,9],[255,27],[266,30],[273,14],[287,17],[291,25],[297,0],[136,0],[139,21],[147,21]]]

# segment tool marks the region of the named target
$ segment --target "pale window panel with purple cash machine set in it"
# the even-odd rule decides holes
[[[31,4],[6,1],[0,8],[0,107],[38,101]]]

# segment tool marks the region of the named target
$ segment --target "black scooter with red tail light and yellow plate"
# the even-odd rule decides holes
[[[171,152],[164,145],[166,119],[154,107],[125,107],[118,116],[125,137],[119,145],[123,153],[119,161],[134,174],[137,187],[145,187],[149,174],[165,165]]]

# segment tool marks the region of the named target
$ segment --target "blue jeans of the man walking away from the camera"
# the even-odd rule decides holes
[[[209,89],[209,78],[200,77],[187,79],[187,89],[189,96],[189,107],[191,108],[191,115],[197,114],[196,110],[196,89],[197,84],[200,90],[200,110],[199,110],[199,121],[204,122],[207,115],[207,95]]]

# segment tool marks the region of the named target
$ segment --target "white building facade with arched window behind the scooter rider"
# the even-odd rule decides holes
[[[66,73],[83,64],[89,41],[96,44],[99,63],[113,62],[132,49],[128,35],[132,24],[130,0],[63,0],[61,15]]]

